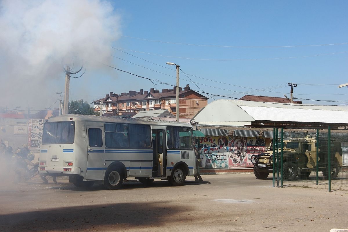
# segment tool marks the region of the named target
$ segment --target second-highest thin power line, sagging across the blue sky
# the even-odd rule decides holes
[[[146,53],[143,51],[124,49],[124,48],[115,48],[115,47],[112,47],[112,48],[122,49],[122,50],[126,50],[126,51],[134,51],[136,53],[143,53],[143,54],[154,55],[154,56],[163,56],[163,57],[180,58],[180,59],[193,59],[193,60],[198,60],[198,61],[266,61],[266,60],[272,60],[272,59],[306,58],[306,57],[314,57],[314,56],[326,56],[326,55],[348,53],[348,51],[341,51],[338,53],[316,54],[316,55],[309,55],[309,56],[291,56],[291,57],[262,58],[262,59],[200,59],[200,58],[190,58],[190,57],[180,57],[180,56],[166,56],[166,55],[160,55],[160,54],[154,54],[154,53]]]

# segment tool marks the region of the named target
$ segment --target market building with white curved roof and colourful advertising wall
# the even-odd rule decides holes
[[[343,166],[348,166],[348,106],[254,102],[221,99],[204,107],[191,120],[205,137],[199,138],[202,168],[252,168],[250,157],[267,150],[273,128],[284,137],[327,136],[340,139]]]

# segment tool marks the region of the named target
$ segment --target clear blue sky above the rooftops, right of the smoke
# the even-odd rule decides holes
[[[105,5],[97,0],[82,2]],[[175,85],[175,66],[166,65],[173,62],[206,93],[226,97],[240,98],[246,94],[290,97],[287,82],[293,82],[298,85],[294,88],[295,98],[348,102],[348,88],[337,88],[348,82],[347,1],[108,3],[112,10],[101,14],[111,14],[117,20],[104,17],[101,22],[109,27],[114,23],[117,29],[105,35],[111,37],[108,40],[103,34],[98,39],[103,46],[113,48],[106,53],[110,59],[98,61],[95,54],[95,63]],[[91,27],[90,32],[93,30]],[[339,43],[343,44],[318,46]],[[200,91],[180,73],[180,86],[186,84]],[[56,87],[52,91],[63,92],[64,73],[57,73],[50,85]],[[129,90],[172,88],[165,84],[154,86],[149,80],[105,65],[93,69],[87,66],[85,75],[71,79],[70,85],[70,100],[83,98],[88,102],[111,91],[120,94]],[[46,94],[49,100],[42,107],[49,107],[58,97]],[[213,98],[226,98],[208,97],[209,102]]]

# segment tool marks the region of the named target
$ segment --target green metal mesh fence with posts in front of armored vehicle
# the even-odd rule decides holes
[[[321,130],[323,131],[323,130]],[[346,141],[324,133],[292,134],[284,138],[283,129],[274,128],[273,186],[296,182],[325,186],[329,192],[348,189]]]

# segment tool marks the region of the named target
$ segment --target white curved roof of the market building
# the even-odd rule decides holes
[[[348,106],[324,106],[221,99],[193,118],[200,125],[251,125],[255,120],[348,123]]]

